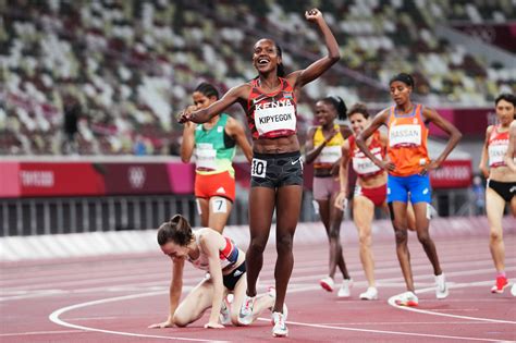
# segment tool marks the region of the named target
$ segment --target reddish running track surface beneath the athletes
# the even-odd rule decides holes
[[[419,307],[391,306],[405,290],[392,240],[374,242],[380,299],[365,302],[366,289],[356,244],[344,245],[355,280],[352,297],[322,291],[328,246],[295,246],[295,266],[286,297],[288,339],[296,342],[431,342],[516,340],[516,297],[489,292],[494,268],[483,236],[435,238],[451,294],[435,299],[430,264],[414,234],[410,252]],[[516,235],[505,236],[506,271],[516,277]],[[266,254],[261,285],[273,284],[275,252]],[[170,262],[156,254],[1,265],[1,342],[159,342],[273,340],[270,315],[248,328],[207,330],[205,315],[186,329],[147,329],[168,314]],[[185,268],[185,285],[202,273]],[[341,275],[337,273],[337,283]],[[52,320],[53,321],[52,321]],[[58,323],[57,323],[58,322]]]

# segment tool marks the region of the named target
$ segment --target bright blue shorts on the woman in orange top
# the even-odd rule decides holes
[[[410,176],[388,175],[388,203],[407,203],[410,193],[410,203],[432,203],[432,187],[430,176],[414,174]]]

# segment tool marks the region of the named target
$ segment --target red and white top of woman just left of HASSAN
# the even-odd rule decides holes
[[[364,154],[356,145],[356,137],[352,135],[347,138],[349,142],[349,158],[352,159],[353,170],[357,173],[360,179],[368,179],[378,174],[383,173],[383,169],[380,169],[377,164],[370,160],[366,154]],[[384,160],[385,149],[380,140],[380,132],[374,131],[372,134],[371,143],[367,146],[374,157],[379,160]]]

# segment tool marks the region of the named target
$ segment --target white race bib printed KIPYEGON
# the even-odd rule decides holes
[[[258,103],[255,108],[255,124],[258,134],[281,130],[296,130],[296,110],[290,99]]]

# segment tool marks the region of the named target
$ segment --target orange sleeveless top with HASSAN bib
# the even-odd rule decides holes
[[[422,118],[422,106],[414,105],[408,114],[400,114],[396,107],[390,108],[388,120],[388,156],[396,169],[390,174],[408,176],[417,174],[430,162],[428,157],[428,128]]]

